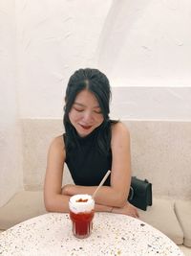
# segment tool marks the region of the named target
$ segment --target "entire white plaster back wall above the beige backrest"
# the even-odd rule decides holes
[[[191,85],[190,0],[15,3],[22,118],[60,118],[70,75],[93,66],[115,87],[115,116],[190,120],[191,92],[175,88]]]

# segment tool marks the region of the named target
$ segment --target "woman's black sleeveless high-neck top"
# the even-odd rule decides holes
[[[76,134],[78,146],[66,151],[65,162],[75,185],[97,186],[107,171],[111,170],[112,151],[110,149],[108,155],[98,151],[96,143],[98,129],[96,128],[86,137]],[[63,136],[65,140],[65,134]],[[110,186],[110,175],[104,185]]]

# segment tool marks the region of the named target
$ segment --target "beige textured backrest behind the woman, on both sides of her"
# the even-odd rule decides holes
[[[191,198],[191,122],[124,121],[131,133],[133,175],[153,183],[155,197]],[[26,190],[43,187],[46,157],[62,120],[23,119]],[[73,182],[67,168],[64,183]]]

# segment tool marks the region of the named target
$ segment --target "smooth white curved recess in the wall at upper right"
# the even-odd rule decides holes
[[[98,57],[114,86],[190,86],[190,10],[190,0],[113,1]]]

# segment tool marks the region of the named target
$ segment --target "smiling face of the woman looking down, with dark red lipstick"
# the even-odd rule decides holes
[[[92,92],[84,89],[77,94],[69,112],[69,119],[81,137],[87,136],[101,125],[103,115]]]

